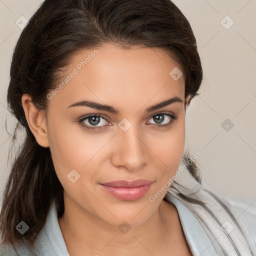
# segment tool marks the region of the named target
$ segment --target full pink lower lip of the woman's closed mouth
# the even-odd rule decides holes
[[[136,200],[148,192],[152,183],[137,187],[114,187],[100,184],[100,186],[112,196],[121,200]]]

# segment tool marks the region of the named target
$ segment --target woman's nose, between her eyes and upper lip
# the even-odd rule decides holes
[[[118,129],[113,142],[116,146],[112,155],[112,164],[130,172],[135,172],[146,165],[148,163],[148,148],[143,138],[145,136],[141,135],[135,125],[131,125],[126,131]]]

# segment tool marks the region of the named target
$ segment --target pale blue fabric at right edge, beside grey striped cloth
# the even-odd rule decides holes
[[[235,209],[256,246],[256,198],[242,198],[221,194]]]

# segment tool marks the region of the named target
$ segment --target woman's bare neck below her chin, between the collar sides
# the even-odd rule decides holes
[[[73,248],[79,248],[81,253],[86,251],[88,255],[99,253],[100,249],[104,249],[104,255],[124,255],[124,251],[133,251],[137,254],[138,248],[141,248],[142,252],[148,247],[159,247],[166,239],[170,241],[171,236],[174,238],[173,230],[176,230],[175,226],[179,220],[174,217],[175,206],[162,200],[146,221],[130,227],[129,230],[124,227],[121,231],[116,225],[106,223],[81,208],[65,194],[65,191],[64,205],[64,214],[59,217],[58,222],[69,254],[74,251]],[[142,252],[144,253],[145,251]]]

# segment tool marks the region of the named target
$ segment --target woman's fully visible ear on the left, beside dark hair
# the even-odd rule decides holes
[[[48,134],[44,112],[35,107],[29,94],[23,94],[21,102],[26,121],[37,143],[43,147],[48,147]]]

